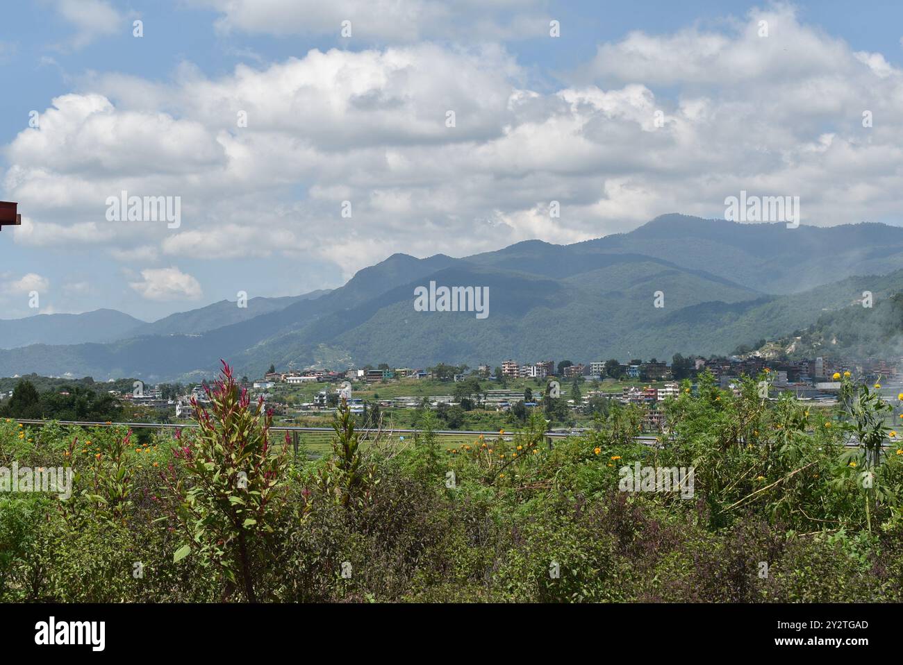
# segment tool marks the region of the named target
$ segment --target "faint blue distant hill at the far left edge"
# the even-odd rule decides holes
[[[24,319],[0,320],[0,348],[30,344],[79,344],[107,342],[144,326],[144,321],[116,309],[96,309],[83,314],[38,314]]]

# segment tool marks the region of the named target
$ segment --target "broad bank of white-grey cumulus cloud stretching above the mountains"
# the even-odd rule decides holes
[[[218,7],[248,32],[284,9]],[[333,23],[324,15],[311,30]],[[292,16],[285,29],[300,29]],[[163,83],[98,75],[7,146],[5,189],[32,217],[14,237],[91,242],[145,266],[290,256],[349,275],[398,251],[464,255],[672,211],[717,216],[740,189],[799,196],[805,224],[903,209],[903,73],[792,7],[632,32],[558,89],[532,89],[527,74],[498,45],[423,42],[312,50],[216,78],[191,65]],[[107,222],[104,201],[121,190],[180,196],[182,225]]]

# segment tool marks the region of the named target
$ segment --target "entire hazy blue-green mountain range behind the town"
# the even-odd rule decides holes
[[[489,317],[417,311],[414,289],[489,289]],[[863,308],[870,291],[874,308]],[[223,300],[153,323],[100,309],[0,321],[0,375],[135,376],[197,381],[219,358],[249,376],[270,364],[345,368],[471,366],[542,358],[726,354],[787,337],[826,313],[848,328],[903,291],[903,228],[738,224],[656,217],[573,245],[539,240],[452,258],[393,254],[331,291]],[[883,313],[882,313],[883,312]],[[868,324],[868,325],[867,325]],[[884,330],[880,348],[901,331]]]

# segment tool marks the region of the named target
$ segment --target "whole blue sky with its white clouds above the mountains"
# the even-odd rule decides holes
[[[718,217],[739,189],[799,195],[805,224],[900,223],[899,3],[321,5],[5,6],[0,198],[27,222],[0,234],[3,317],[38,291],[42,313],[156,319],[338,286],[394,252]],[[121,189],[181,197],[182,226],[110,223]]]

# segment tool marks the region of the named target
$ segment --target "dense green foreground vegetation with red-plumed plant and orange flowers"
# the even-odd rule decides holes
[[[843,397],[810,412],[704,374],[657,447],[632,409],[554,448],[532,411],[443,450],[433,411],[365,442],[342,405],[310,461],[228,368],[200,429],[144,444],[3,420],[0,466],[74,478],[66,501],[0,493],[0,600],[900,602],[903,448],[869,387]],[[692,491],[623,491],[635,465],[692,467]]]

